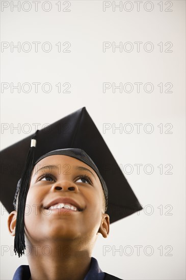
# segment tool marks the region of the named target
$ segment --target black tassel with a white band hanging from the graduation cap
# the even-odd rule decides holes
[[[18,195],[18,207],[17,207],[17,220],[15,227],[15,239],[14,239],[14,252],[18,256],[22,256],[24,254],[25,240],[24,240],[24,211],[25,211],[25,203],[26,197],[29,191],[31,175],[33,171],[34,165],[34,155],[35,155],[35,147],[36,147],[36,136],[39,130],[36,131],[32,140],[31,147],[29,149],[28,156],[26,157],[26,161],[24,164],[24,168],[21,175],[20,181],[20,189]]]

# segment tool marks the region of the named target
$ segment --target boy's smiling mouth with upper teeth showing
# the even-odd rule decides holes
[[[72,199],[70,198],[58,198],[54,201],[51,201],[47,205],[44,206],[45,209],[69,209],[72,211],[83,211],[83,209]]]

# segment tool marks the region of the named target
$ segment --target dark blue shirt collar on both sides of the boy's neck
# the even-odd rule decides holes
[[[103,280],[104,272],[100,269],[98,262],[95,258],[91,258],[90,269],[85,276],[84,280]],[[21,265],[15,271],[13,280],[29,280],[31,277],[31,272],[29,265]]]

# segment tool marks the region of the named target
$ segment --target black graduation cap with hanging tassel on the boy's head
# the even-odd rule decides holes
[[[19,235],[22,231],[24,233],[25,200],[32,170],[38,160],[48,155],[69,155],[92,167],[100,179],[108,202],[107,213],[111,223],[142,209],[85,107],[4,149],[0,154],[1,201],[9,213],[14,210],[13,201],[15,205],[19,191],[17,220],[20,220],[18,225],[16,222],[14,243],[14,250],[19,256],[23,254],[25,247],[24,234],[21,245]],[[15,249],[16,246],[19,248]]]

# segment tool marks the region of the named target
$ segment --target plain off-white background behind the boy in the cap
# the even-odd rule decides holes
[[[52,90],[45,93],[40,86],[36,93],[33,86],[30,93],[18,93],[16,89],[11,92],[11,88],[1,93],[1,150],[34,133],[34,123],[39,123],[41,129],[44,124],[86,106],[144,207],[141,212],[113,223],[107,239],[99,236],[93,256],[103,271],[123,279],[185,279],[185,2],[142,1],[138,11],[135,1],[128,4],[123,1],[125,9],[113,11],[114,2],[110,1],[107,5],[111,7],[105,12],[102,1],[61,1],[61,12],[56,5],[59,1],[50,1],[48,12],[41,8],[43,1],[38,3],[37,12],[33,1],[29,1],[29,12],[23,11],[29,4],[18,12],[16,8],[11,11],[11,5],[17,1],[6,2],[10,6],[1,12],[1,41],[10,45],[20,42],[21,46],[30,42],[32,49],[29,52],[22,49],[18,52],[15,48],[11,51],[10,47],[1,50],[2,82],[14,86],[18,82],[20,85],[47,82]],[[49,6],[45,5],[46,10]],[[68,5],[70,11],[63,11]],[[126,11],[130,8],[130,12]],[[150,8],[152,11],[147,11]],[[38,52],[32,42],[41,42]],[[44,42],[50,42],[50,52],[42,50]],[[62,49],[67,46],[63,46],[64,42],[70,42],[70,52],[58,52],[58,42]],[[113,52],[111,47],[103,52],[103,42],[112,46],[113,42],[116,45],[130,42],[134,50],[120,52],[116,48]],[[139,52],[134,42],[142,42]],[[146,42],[153,44],[153,51],[144,50]],[[173,44],[172,52],[165,52],[169,47],[166,42]],[[58,93],[59,82],[70,83],[70,93]],[[130,82],[134,90],[120,93],[116,89],[114,93],[111,88],[103,93],[104,82],[111,85],[115,82],[116,86]],[[140,92],[135,82],[143,83]],[[144,91],[147,82],[154,87],[151,93]],[[162,93],[157,86],[160,83],[164,85]],[[165,92],[166,83],[172,83],[172,93]],[[103,133],[105,123],[111,129]],[[140,133],[135,123],[142,124]],[[149,123],[154,129],[152,133],[144,131],[150,128],[145,126]],[[134,128],[131,133],[126,133],[129,130],[126,124]],[[121,125],[123,130],[113,131],[114,125]],[[170,127],[172,133],[166,133]],[[129,167],[125,169],[127,164],[134,168],[131,174]],[[142,164],[139,174],[135,164]],[[151,175],[147,174],[149,169],[145,172],[146,164],[153,166]],[[163,174],[157,167],[161,164]],[[172,174],[165,174],[171,165]],[[1,205],[3,280],[12,279],[19,265],[28,264],[26,257],[14,256],[14,238],[9,235],[7,218],[8,213]],[[104,256],[105,245],[111,250]],[[114,254],[114,246],[121,248],[122,253]],[[142,246],[139,254],[137,246]],[[149,248],[153,248],[151,256],[147,256]]]

